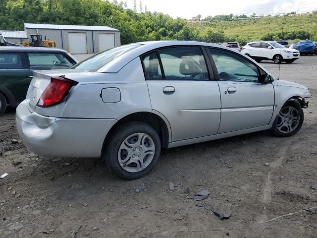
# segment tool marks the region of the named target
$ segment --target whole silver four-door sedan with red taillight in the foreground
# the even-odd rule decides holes
[[[50,157],[103,157],[124,179],[149,173],[161,148],[302,126],[310,93],[256,61],[189,41],[120,46],[71,69],[36,72],[16,110],[26,147]]]

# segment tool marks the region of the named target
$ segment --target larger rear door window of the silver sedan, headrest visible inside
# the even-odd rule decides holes
[[[202,50],[175,47],[159,50],[165,80],[209,80]]]

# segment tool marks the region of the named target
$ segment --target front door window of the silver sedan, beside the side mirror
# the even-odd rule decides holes
[[[209,49],[222,81],[259,82],[259,69],[231,52]]]

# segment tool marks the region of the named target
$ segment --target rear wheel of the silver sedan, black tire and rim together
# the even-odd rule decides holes
[[[133,121],[119,125],[106,139],[106,164],[122,179],[139,179],[159,159],[161,143],[150,125]]]

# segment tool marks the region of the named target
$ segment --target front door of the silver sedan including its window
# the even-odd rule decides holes
[[[274,108],[273,85],[261,84],[261,70],[244,57],[220,49],[209,51],[221,95],[218,133],[267,125]]]

